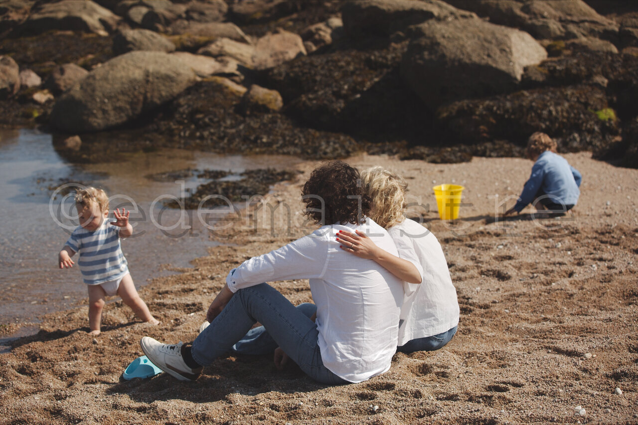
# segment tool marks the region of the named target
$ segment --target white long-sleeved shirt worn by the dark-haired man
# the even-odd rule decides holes
[[[265,281],[309,279],[317,306],[323,365],[349,382],[390,368],[396,352],[401,280],[373,260],[347,255],[339,230],[366,232],[377,246],[397,255],[388,232],[373,220],[364,225],[327,225],[278,250],[244,261],[228,274],[232,292]]]

